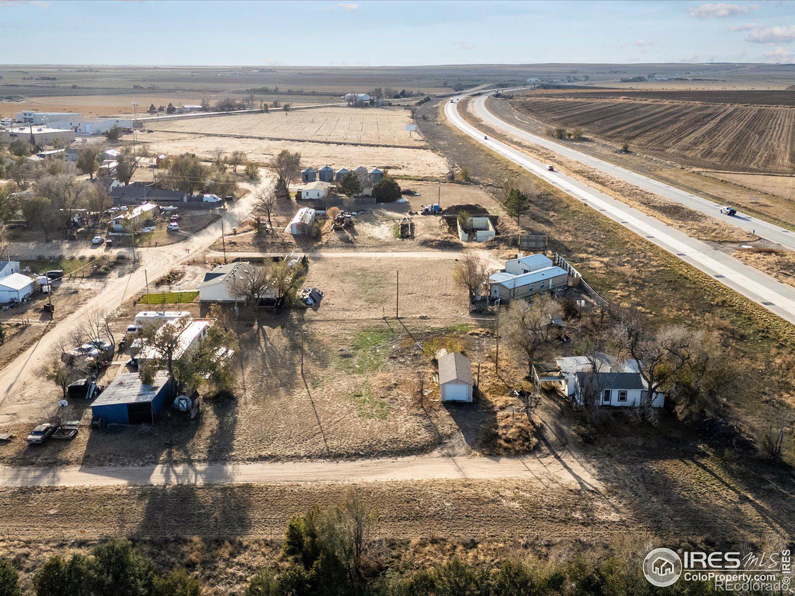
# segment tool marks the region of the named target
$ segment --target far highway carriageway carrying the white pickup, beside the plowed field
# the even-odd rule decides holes
[[[492,94],[489,93],[487,95],[480,95],[479,97],[475,98],[473,107],[475,109],[475,113],[478,114],[478,117],[491,124],[491,126],[494,126],[494,128],[504,130],[506,133],[512,134],[514,137],[519,137],[522,140],[530,141],[534,145],[540,145],[541,147],[558,153],[563,157],[568,157],[568,159],[579,161],[581,164],[591,166],[591,168],[598,169],[599,171],[609,174],[614,178],[634,184],[635,186],[643,188],[646,191],[665,197],[665,199],[670,199],[672,201],[676,201],[677,203],[681,203],[685,207],[689,207],[694,211],[700,211],[705,215],[710,215],[711,217],[728,223],[731,226],[742,228],[743,230],[756,234],[760,238],[765,238],[766,240],[770,240],[770,242],[776,242],[781,246],[785,246],[789,250],[795,250],[795,232],[791,230],[786,230],[785,228],[776,226],[773,223],[768,223],[763,219],[755,218],[740,211],[738,211],[737,215],[734,216],[723,215],[720,212],[720,207],[722,207],[721,205],[718,203],[713,203],[708,199],[704,199],[704,197],[694,195],[692,192],[683,191],[680,188],[674,188],[669,184],[665,184],[657,180],[652,180],[647,176],[638,174],[638,172],[632,172],[626,168],[621,168],[618,165],[611,164],[609,161],[600,160],[598,157],[591,157],[586,153],[582,153],[576,149],[571,149],[564,145],[560,145],[560,143],[556,143],[549,138],[539,137],[537,134],[531,134],[526,130],[522,130],[517,126],[513,126],[508,122],[501,120],[495,116],[486,105],[486,99],[490,95]]]

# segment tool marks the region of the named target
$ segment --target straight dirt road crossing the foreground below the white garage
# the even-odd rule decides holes
[[[602,486],[574,457],[404,457],[359,461],[203,463],[159,466],[2,467],[0,485],[169,486],[179,484],[259,484],[273,482],[387,482],[414,480],[524,478],[570,489]]]

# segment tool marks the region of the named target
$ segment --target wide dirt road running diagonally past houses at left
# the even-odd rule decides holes
[[[224,215],[227,226],[234,227],[249,215],[253,193],[238,200]],[[50,330],[14,362],[0,371],[0,423],[33,420],[41,412],[31,405],[37,401],[37,383],[31,382],[41,377],[41,367],[45,364],[48,352],[58,339],[80,326],[83,316],[97,308],[112,311],[130,296],[145,287],[145,276],[157,279],[169,272],[174,265],[188,259],[192,254],[207,249],[221,235],[221,223],[217,221],[178,245],[137,251],[141,265],[126,277],[111,278],[101,292],[83,304],[72,315],[63,320],[57,318]]]

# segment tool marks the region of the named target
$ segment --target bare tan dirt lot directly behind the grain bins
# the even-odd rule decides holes
[[[291,113],[292,115],[293,113]],[[262,139],[234,137],[204,137],[195,134],[152,133],[139,139],[149,143],[152,151],[178,155],[196,153],[210,160],[216,147],[231,151],[244,151],[251,161],[266,164],[282,149],[301,153],[304,167],[317,168],[330,165],[332,168],[386,168],[395,176],[442,177],[448,172],[448,163],[430,149],[405,149],[403,147],[370,147],[364,145],[335,145],[334,143],[268,141]]]

